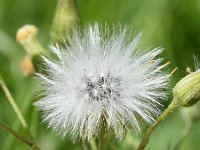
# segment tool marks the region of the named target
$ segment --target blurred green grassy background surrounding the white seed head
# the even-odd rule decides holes
[[[20,62],[25,52],[15,40],[18,28],[34,24],[39,28],[40,42],[47,47],[56,5],[56,0],[0,0],[0,73],[42,149],[78,150],[82,149],[81,144],[73,145],[67,139],[61,140],[40,123],[39,114],[32,106],[37,82],[23,75]],[[200,55],[200,0],[78,0],[77,7],[82,24],[106,22],[128,25],[134,33],[144,32],[141,47],[164,47],[162,57],[172,62],[169,72],[179,68],[173,75],[171,87],[187,74],[186,67],[194,69],[193,55]],[[166,104],[170,101],[171,98]],[[199,112],[198,105],[190,110],[174,112],[156,129],[146,149],[200,149]],[[24,134],[2,90],[0,121]],[[190,125],[191,129],[185,134]],[[140,138],[140,133],[129,133],[120,144],[110,139],[107,149],[131,150]],[[0,129],[0,149],[29,148]]]

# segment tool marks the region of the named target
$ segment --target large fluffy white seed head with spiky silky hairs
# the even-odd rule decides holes
[[[120,141],[127,128],[139,131],[140,120],[160,114],[167,75],[155,57],[162,49],[142,52],[141,34],[128,36],[126,29],[107,35],[95,24],[73,31],[64,48],[52,47],[57,61],[44,57],[44,97],[35,105],[62,137],[90,140],[103,126]]]

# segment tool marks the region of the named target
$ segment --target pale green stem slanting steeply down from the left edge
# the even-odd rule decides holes
[[[11,106],[13,107],[15,113],[17,114],[17,117],[19,118],[19,121],[21,122],[22,126],[24,129],[27,129],[28,128],[28,125],[24,119],[24,116],[22,115],[22,112],[20,111],[19,107],[17,106],[14,98],[12,97],[10,91],[8,90],[3,78],[1,77],[0,75],[0,86],[2,87],[6,97],[7,97],[7,100],[9,101],[9,103],[11,104]]]

